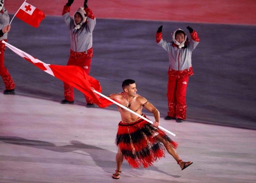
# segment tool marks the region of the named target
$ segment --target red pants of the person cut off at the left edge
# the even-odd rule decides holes
[[[0,43],[0,75],[4,81],[5,89],[12,90],[14,89],[15,85],[8,70],[6,69],[6,67],[4,67],[4,49],[5,49],[5,45],[1,42]]]

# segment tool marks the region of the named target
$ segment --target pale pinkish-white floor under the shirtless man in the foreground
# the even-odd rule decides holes
[[[256,180],[254,130],[176,123],[161,118],[178,142],[184,161],[181,171],[166,154],[153,167],[131,169],[126,161],[119,180],[114,144],[120,114],[117,110],[62,105],[44,98],[0,94],[1,183],[253,183]],[[3,116],[4,114],[4,116]],[[152,119],[151,115],[148,115]]]

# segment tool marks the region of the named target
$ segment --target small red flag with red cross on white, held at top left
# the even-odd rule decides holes
[[[38,28],[40,22],[45,18],[41,10],[27,2],[22,4],[15,16],[35,28]]]

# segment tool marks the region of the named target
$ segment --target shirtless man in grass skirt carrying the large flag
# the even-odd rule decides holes
[[[112,178],[120,178],[124,159],[134,168],[146,168],[157,159],[164,157],[165,149],[174,157],[182,170],[191,165],[193,162],[184,162],[178,156],[175,150],[178,144],[172,141],[165,132],[157,128],[159,126],[159,112],[146,98],[136,93],[135,81],[132,79],[124,80],[122,88],[124,92],[110,94],[108,97],[144,117],[142,108],[146,108],[146,110],[154,114],[155,121],[154,124],[150,124],[142,118],[138,118],[135,114],[117,106],[122,121],[118,124],[116,135],[118,152],[116,154],[116,171],[113,173]]]

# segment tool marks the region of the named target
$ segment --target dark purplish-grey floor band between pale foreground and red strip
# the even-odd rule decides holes
[[[256,129],[255,26],[96,20],[90,75],[100,81],[102,94],[120,92],[124,79],[134,79],[138,94],[156,106],[161,117],[166,116],[168,55],[156,44],[155,33],[163,25],[163,38],[171,41],[172,31],[181,28],[188,33],[186,26],[190,26],[200,43],[192,54],[194,76],[187,88],[187,120]],[[68,61],[69,32],[61,17],[47,16],[37,29],[14,18],[8,43],[48,64],[66,65]],[[64,99],[62,81],[8,48],[5,65],[16,84],[16,94]],[[0,90],[4,90],[2,84]],[[75,104],[86,104],[77,90]]]

